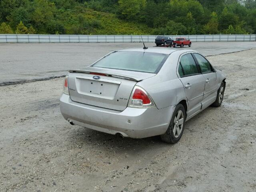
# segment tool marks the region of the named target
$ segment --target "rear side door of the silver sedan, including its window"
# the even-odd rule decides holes
[[[201,101],[204,95],[204,76],[196,64],[191,53],[180,57],[178,76],[182,82],[188,100],[188,117],[202,108]]]

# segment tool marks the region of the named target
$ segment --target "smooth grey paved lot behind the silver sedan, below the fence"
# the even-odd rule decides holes
[[[147,46],[155,46],[146,43]],[[142,47],[142,43],[18,43],[0,44],[0,85],[63,76],[81,69],[113,50]],[[205,56],[256,48],[255,42],[192,42]],[[183,49],[190,49],[185,46]]]

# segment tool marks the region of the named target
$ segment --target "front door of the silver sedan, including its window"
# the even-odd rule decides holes
[[[208,62],[208,60],[204,58],[204,56],[198,53],[194,53],[193,55],[198,62],[198,65],[205,80],[202,108],[206,108],[216,100],[218,91],[217,75],[210,62]]]

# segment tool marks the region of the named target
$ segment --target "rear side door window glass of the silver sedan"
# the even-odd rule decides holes
[[[183,55],[180,58],[178,72],[180,74],[180,77],[190,76],[199,73],[198,68],[196,67],[196,62],[190,53]]]

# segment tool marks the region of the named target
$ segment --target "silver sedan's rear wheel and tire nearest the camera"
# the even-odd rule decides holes
[[[184,131],[186,120],[186,112],[182,104],[178,104],[172,114],[172,119],[165,134],[160,137],[164,142],[177,143]]]

